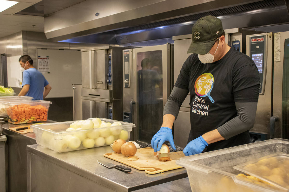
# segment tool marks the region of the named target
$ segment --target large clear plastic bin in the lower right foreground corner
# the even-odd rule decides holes
[[[187,169],[193,192],[289,191],[289,186],[280,189],[258,180],[237,176],[245,173],[234,169],[234,166],[277,152],[289,154],[289,140],[276,138],[181,157],[176,164]]]

